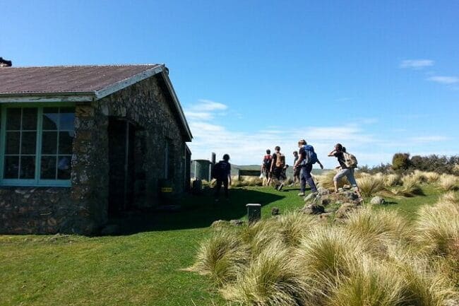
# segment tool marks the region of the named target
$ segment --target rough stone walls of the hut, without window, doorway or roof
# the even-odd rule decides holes
[[[0,233],[95,233],[108,220],[109,116],[128,119],[136,131],[136,206],[155,206],[165,179],[165,142],[174,193],[184,192],[185,139],[172,98],[159,76],[101,100],[76,105],[72,187],[0,187]]]

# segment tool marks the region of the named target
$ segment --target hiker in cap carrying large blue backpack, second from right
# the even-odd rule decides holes
[[[314,183],[311,175],[312,165],[318,163],[321,166],[321,169],[323,169],[323,165],[318,161],[317,154],[314,152],[314,147],[308,145],[304,139],[298,141],[298,147],[299,158],[297,163],[294,165],[294,168],[300,168],[300,191],[298,196],[304,196],[304,191],[306,190],[306,182],[309,184],[309,187],[311,187],[311,192],[316,193],[316,183]]]

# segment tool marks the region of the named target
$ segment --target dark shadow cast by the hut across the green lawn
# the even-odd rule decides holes
[[[182,230],[206,228],[215,220],[232,220],[246,216],[246,204],[261,206],[284,198],[282,194],[270,194],[253,189],[231,189],[229,200],[220,196],[215,201],[213,191],[207,189],[200,195],[185,194],[181,199],[169,201],[181,206],[179,211],[142,211],[129,213],[124,218],[113,218],[110,224],[117,224],[121,235],[154,230]]]

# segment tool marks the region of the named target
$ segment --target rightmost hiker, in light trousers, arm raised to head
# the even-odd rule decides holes
[[[346,156],[348,158],[346,158]],[[357,159],[355,159],[354,155],[351,155],[346,152],[346,148],[342,146],[341,143],[336,143],[335,148],[328,153],[328,156],[338,158],[338,163],[340,163],[340,170],[338,173],[333,177],[333,184],[335,185],[335,192],[338,193],[338,181],[341,177],[347,177],[347,180],[351,184],[352,187],[355,188],[357,195],[359,196],[359,200],[362,201],[362,195],[360,194],[360,189],[357,186],[357,182],[354,177],[354,167],[357,167]],[[353,157],[354,160],[351,159]],[[347,160],[346,160],[347,159]]]

